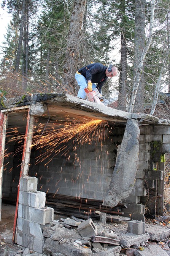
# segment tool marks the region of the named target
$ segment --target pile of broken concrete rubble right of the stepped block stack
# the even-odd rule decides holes
[[[139,229],[136,228],[137,224]],[[135,233],[129,233],[129,230]],[[168,227],[151,223],[144,228],[143,222],[133,220],[132,223],[123,221],[106,224],[72,216],[54,220],[52,225],[43,229],[43,255],[167,256],[170,255],[170,243],[167,242],[169,235]]]

